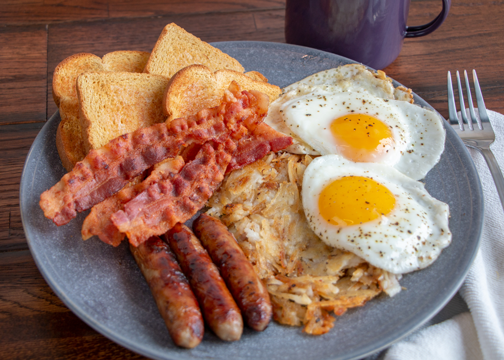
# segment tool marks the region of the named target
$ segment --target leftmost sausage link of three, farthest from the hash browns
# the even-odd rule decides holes
[[[173,342],[192,348],[203,339],[205,324],[198,300],[175,256],[158,236],[152,236],[131,252],[144,274]]]

